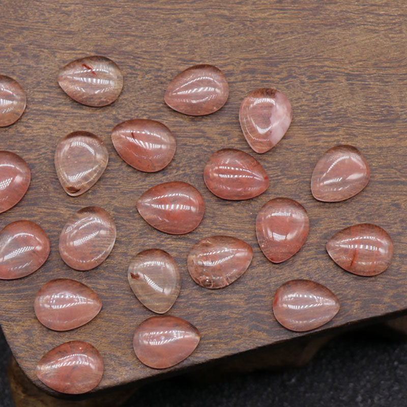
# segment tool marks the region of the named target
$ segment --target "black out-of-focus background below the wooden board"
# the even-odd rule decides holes
[[[9,355],[1,333],[1,407],[13,406]],[[301,368],[239,374],[216,383],[190,383],[181,376],[147,385],[124,407],[403,407],[406,384],[407,342],[356,332],[332,340]]]

